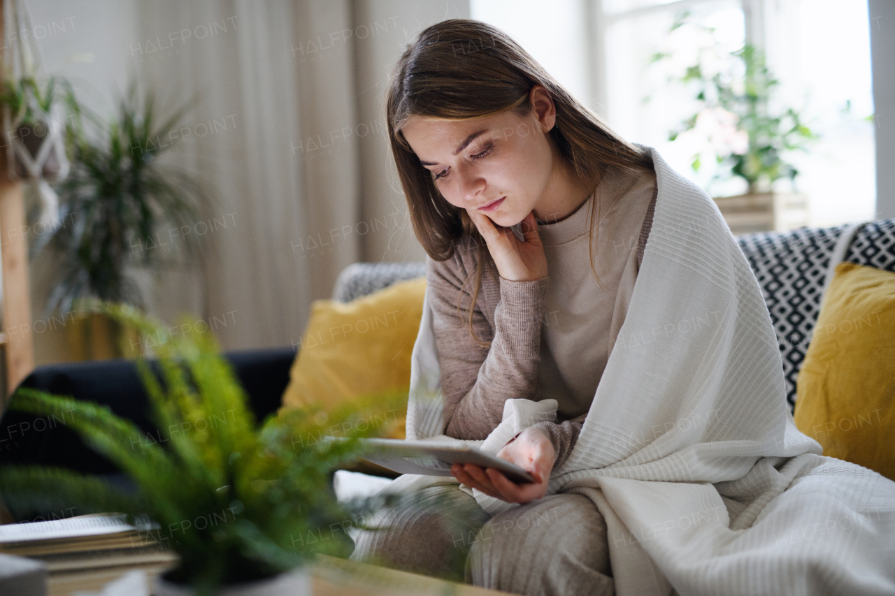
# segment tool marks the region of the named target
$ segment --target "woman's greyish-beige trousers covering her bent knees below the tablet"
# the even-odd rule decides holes
[[[382,509],[355,537],[355,561],[529,596],[615,593],[606,523],[584,495],[560,493],[491,517],[456,484]]]

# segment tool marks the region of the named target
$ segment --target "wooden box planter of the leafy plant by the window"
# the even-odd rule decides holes
[[[717,197],[715,204],[734,235],[788,232],[808,225],[808,197],[795,192],[752,192]]]

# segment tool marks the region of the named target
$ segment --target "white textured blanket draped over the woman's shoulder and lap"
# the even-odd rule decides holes
[[[634,294],[549,494],[592,498],[619,596],[895,594],[895,482],[821,456],[788,411],[771,318],[714,202],[652,147],[659,192]],[[408,438],[447,439],[428,291]],[[496,453],[554,400],[510,400]],[[452,478],[405,474],[387,490]],[[470,490],[492,515],[517,507]]]

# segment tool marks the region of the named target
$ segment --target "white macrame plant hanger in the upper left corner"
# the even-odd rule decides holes
[[[40,47],[33,35],[28,6],[24,0],[3,0],[4,79],[13,85],[25,78],[36,81],[38,89],[46,89],[47,75],[43,72]],[[13,41],[14,40],[14,41]],[[17,114],[10,106],[3,109],[3,125],[12,155],[6,160],[10,180],[22,179],[35,190],[40,200],[40,214],[34,222],[36,234],[52,234],[62,222],[59,220],[59,197],[50,183],[58,183],[68,175],[69,163],[65,156],[64,109],[55,100],[47,112],[34,97],[34,89],[22,86],[23,98]],[[32,115],[26,122],[26,115]],[[36,188],[35,188],[36,187]]]

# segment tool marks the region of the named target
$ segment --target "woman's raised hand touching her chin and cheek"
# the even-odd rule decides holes
[[[519,241],[513,229],[495,226],[490,217],[475,209],[466,213],[478,228],[479,234],[488,243],[491,259],[497,265],[500,277],[509,281],[534,281],[547,277],[547,256],[538,234],[538,223],[533,213],[522,220],[523,240]]]

